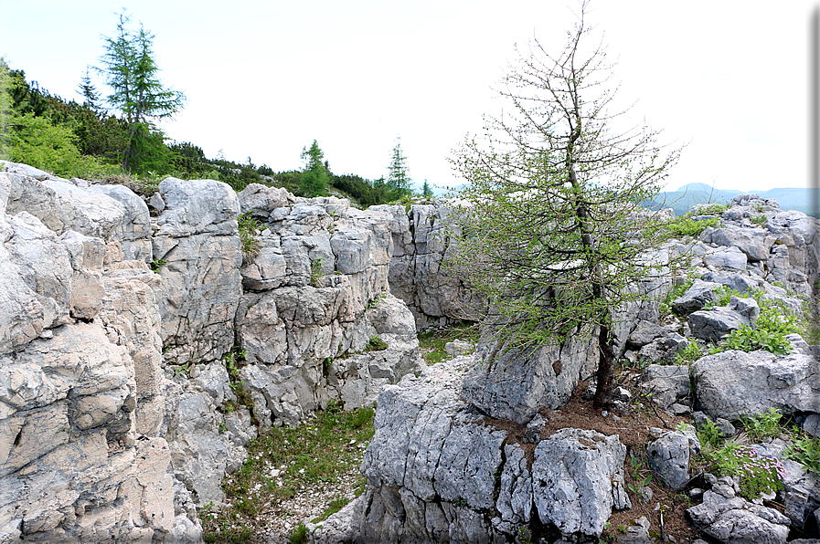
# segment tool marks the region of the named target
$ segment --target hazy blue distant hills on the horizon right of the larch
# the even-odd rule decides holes
[[[768,191],[736,191],[733,189],[715,189],[706,183],[688,183],[677,191],[664,192],[657,195],[649,205],[653,208],[666,207],[675,210],[676,215],[686,214],[695,204],[727,204],[731,199],[743,193],[757,194],[761,198],[773,198],[783,210],[797,210],[804,214],[818,216],[813,210],[815,200],[812,198],[814,189],[786,187],[770,189]]]

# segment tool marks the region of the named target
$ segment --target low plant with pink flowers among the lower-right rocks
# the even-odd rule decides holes
[[[740,495],[749,500],[783,489],[783,463],[748,445],[729,443],[711,457],[721,476],[740,476]]]

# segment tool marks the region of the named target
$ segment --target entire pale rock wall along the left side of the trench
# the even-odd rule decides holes
[[[197,507],[224,499],[257,433],[248,410],[223,410],[231,380],[264,427],[330,399],[371,403],[419,369],[414,319],[389,295],[383,214],[263,194],[261,255],[242,268],[224,183],[168,178],[151,217],[122,186],[2,168],[3,535],[200,542]],[[241,376],[220,361],[237,341]]]

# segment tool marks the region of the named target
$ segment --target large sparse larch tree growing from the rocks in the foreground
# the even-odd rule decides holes
[[[680,149],[665,151],[644,125],[613,130],[623,116],[611,111],[604,47],[587,47],[587,7],[558,56],[536,39],[516,47],[498,89],[510,108],[454,152],[467,188],[450,263],[488,297],[507,349],[597,334],[595,403],[605,406],[616,310],[647,298],[634,287],[663,268],[647,254],[668,237],[664,219],[640,203]]]

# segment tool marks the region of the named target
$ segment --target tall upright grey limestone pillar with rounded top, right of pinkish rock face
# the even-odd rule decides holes
[[[214,361],[234,343],[242,255],[240,204],[226,183],[166,178],[166,208],[156,219],[154,258],[165,261],[156,299],[165,359]]]

